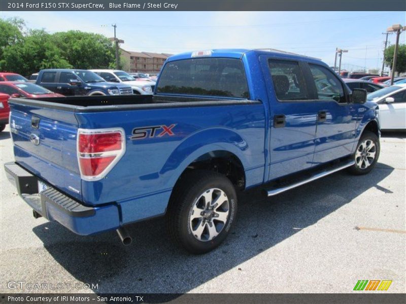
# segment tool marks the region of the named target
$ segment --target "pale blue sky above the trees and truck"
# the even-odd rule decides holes
[[[405,12],[0,12],[50,33],[82,30],[114,35],[128,51],[182,53],[220,48],[273,48],[342,67],[381,68],[387,27],[406,25]],[[388,45],[395,44],[395,34]],[[406,32],[400,43],[406,43]]]

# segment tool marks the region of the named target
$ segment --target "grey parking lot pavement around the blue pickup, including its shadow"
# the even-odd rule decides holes
[[[115,232],[81,237],[33,218],[3,170],[13,160],[8,131],[0,133],[0,292],[351,293],[358,280],[406,291],[404,133],[383,134],[368,175],[338,172],[272,199],[242,194],[225,243],[195,256],[168,240],[162,218],[130,225],[126,247]],[[10,281],[72,285],[10,289]],[[97,288],[73,288],[83,283]]]

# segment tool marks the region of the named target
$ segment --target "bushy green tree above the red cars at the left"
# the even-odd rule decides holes
[[[3,69],[25,76],[44,68],[71,68],[52,35],[44,30],[31,30],[22,41],[7,47],[1,61]]]

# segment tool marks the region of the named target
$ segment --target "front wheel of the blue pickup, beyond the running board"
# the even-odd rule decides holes
[[[355,164],[348,168],[354,175],[369,173],[378,162],[381,146],[378,136],[370,131],[365,131],[358,141],[354,154]]]

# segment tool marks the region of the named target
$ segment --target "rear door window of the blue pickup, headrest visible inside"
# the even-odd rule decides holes
[[[297,61],[269,59],[269,71],[278,100],[307,100],[309,94]]]

